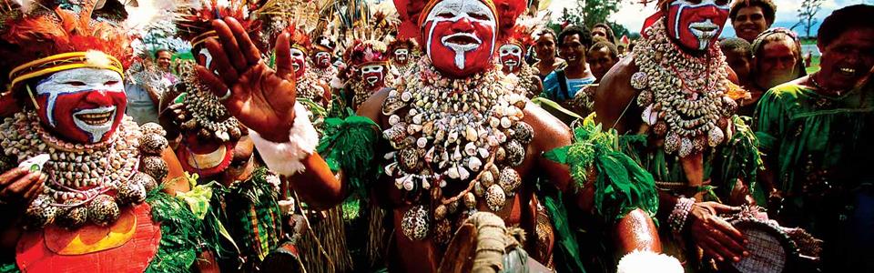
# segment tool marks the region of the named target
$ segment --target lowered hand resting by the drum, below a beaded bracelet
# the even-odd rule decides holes
[[[690,233],[704,253],[724,261],[727,258],[739,261],[748,256],[744,249],[744,236],[735,227],[716,214],[737,212],[739,208],[716,202],[701,202],[692,205],[689,211]]]

